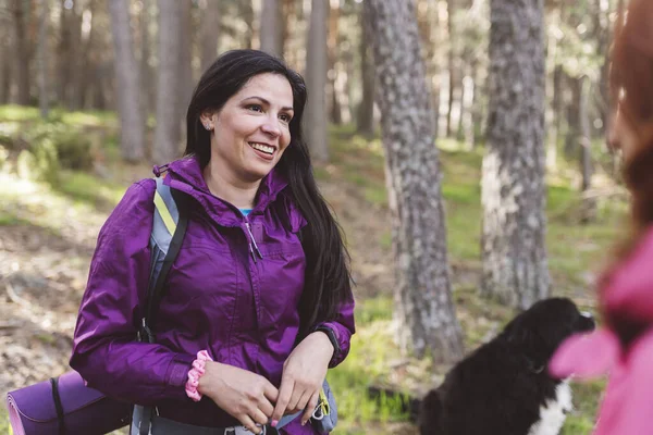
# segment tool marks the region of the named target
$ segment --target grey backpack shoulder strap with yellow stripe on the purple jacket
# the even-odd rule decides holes
[[[152,260],[146,308],[138,333],[138,339],[148,343],[155,343],[155,335],[150,326],[156,323],[168,273],[180,252],[188,226],[188,219],[183,207],[186,203],[184,194],[164,185],[162,177],[157,177],[156,181],[155,216],[150,234]]]

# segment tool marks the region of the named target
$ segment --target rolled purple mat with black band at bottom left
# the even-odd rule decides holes
[[[70,371],[7,395],[14,435],[103,435],[130,424],[133,406],[86,386]]]

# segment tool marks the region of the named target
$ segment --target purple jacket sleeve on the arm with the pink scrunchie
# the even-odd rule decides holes
[[[195,359],[135,341],[149,279],[155,186],[151,179],[132,185],[100,231],[70,361],[90,387],[139,405],[189,400],[184,386]]]

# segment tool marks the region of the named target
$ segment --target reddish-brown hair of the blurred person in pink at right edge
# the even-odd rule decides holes
[[[624,164],[624,181],[632,195],[631,228],[617,246],[616,261],[603,274],[601,288],[636,249],[641,236],[653,225],[653,3],[631,0],[628,14],[619,11],[611,55],[611,97],[636,136],[632,156]],[[613,110],[617,104],[613,104]],[[650,327],[644,319],[629,313],[605,312],[605,318],[628,346]]]

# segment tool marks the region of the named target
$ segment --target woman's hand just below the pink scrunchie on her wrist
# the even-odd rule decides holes
[[[197,390],[258,434],[269,422],[279,390],[263,376],[233,365],[207,361]]]

